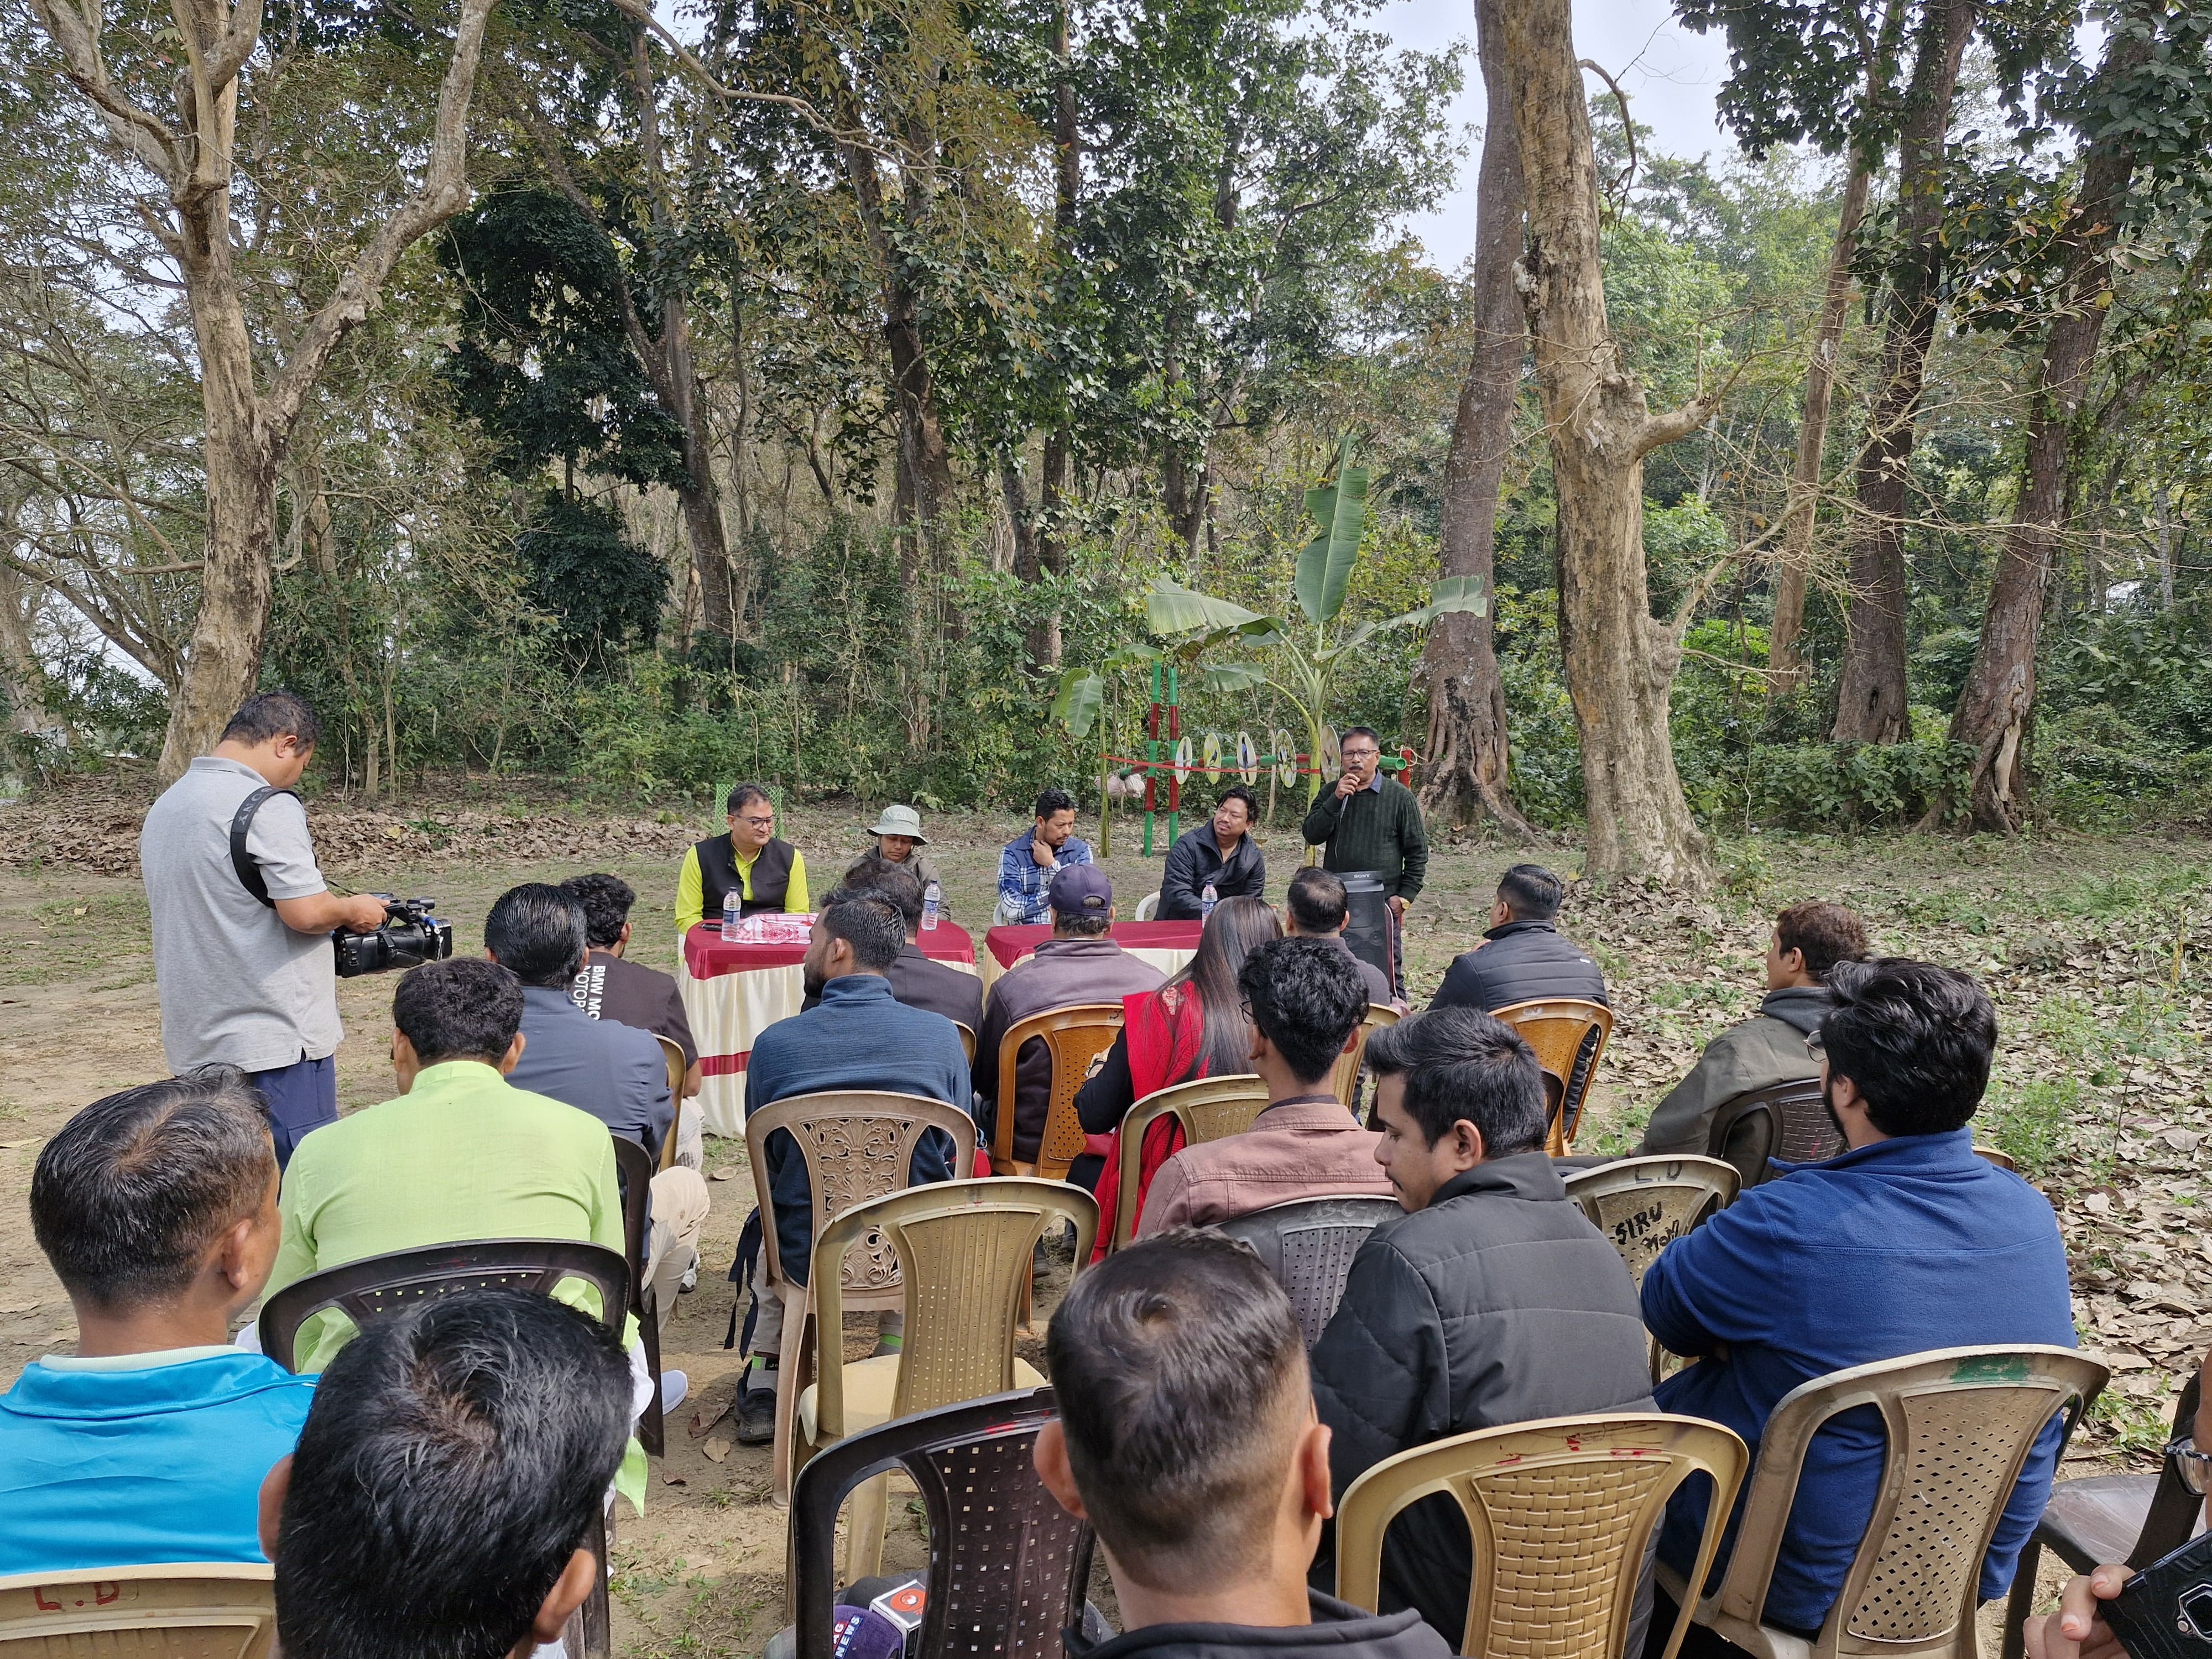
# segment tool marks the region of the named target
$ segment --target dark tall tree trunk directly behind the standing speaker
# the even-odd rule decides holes
[[[1498,489],[1513,442],[1526,354],[1526,323],[1513,290],[1526,192],[1498,0],[1475,0],[1475,33],[1489,104],[1475,188],[1475,352],[1444,458],[1440,573],[1478,577],[1495,602]],[[1429,681],[1429,781],[1420,805],[1447,823],[1489,814],[1513,834],[1528,836],[1533,832],[1513,805],[1506,770],[1506,688],[1498,675],[1493,617],[1495,604],[1480,617],[1460,611],[1429,624],[1429,644],[1420,655],[1420,672]]]

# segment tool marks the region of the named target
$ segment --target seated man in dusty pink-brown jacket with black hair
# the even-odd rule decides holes
[[[1374,1130],[1329,1086],[1338,1055],[1367,1018],[1352,958],[1318,938],[1267,940],[1245,958],[1237,989],[1250,1009],[1252,1071],[1267,1108],[1243,1135],[1186,1146],[1159,1166],[1137,1237],[1265,1210],[1325,1192],[1389,1192]]]

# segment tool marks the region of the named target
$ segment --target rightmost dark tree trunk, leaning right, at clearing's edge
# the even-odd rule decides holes
[[[2099,75],[2115,84],[2150,58],[2150,42],[2132,31],[2106,38]],[[2097,341],[2112,294],[2112,237],[2135,177],[2135,146],[2112,131],[2090,142],[2081,195],[2066,219],[2066,268],[2057,285],[2057,314],[2044,338],[2044,363],[2028,411],[2028,447],[2020,465],[2020,507],[1997,555],[1966,688],[1951,714],[1951,741],[1973,745],[1973,783],[1966,796],[1978,830],[2013,834],[2026,790],[2020,757],[2035,712],[2035,650],[2042,644],[2044,595],[2059,535],[2066,529],[2066,458],[2081,396],[2088,392]],[[1929,814],[1942,818],[1940,803]]]

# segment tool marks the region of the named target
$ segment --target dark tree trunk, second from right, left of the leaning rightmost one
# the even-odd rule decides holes
[[[1838,743],[1898,743],[1909,730],[1905,684],[1905,493],[1920,422],[1936,312],[1942,305],[1944,139],[1975,0],[1942,0],[1920,24],[1898,135],[1898,208],[1907,248],[1889,274],[1882,389],[1858,456],[1851,613],[1836,695]]]

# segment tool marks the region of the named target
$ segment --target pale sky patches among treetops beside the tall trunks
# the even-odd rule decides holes
[[[1453,40],[1475,38],[1471,0],[1394,0],[1376,27],[1405,46],[1438,51]],[[1728,46],[1721,35],[1692,35],[1674,22],[1663,0],[1575,0],[1575,55],[1604,64],[1628,93],[1628,111],[1650,126],[1668,155],[1697,159],[1725,153],[1728,137],[1712,119],[1712,97],[1728,77]],[[1599,86],[1597,77],[1588,77]],[[1453,111],[1458,124],[1482,124],[1482,73],[1467,58],[1467,91]],[[1475,248],[1475,164],[1469,146],[1458,188],[1440,212],[1413,219],[1413,232],[1444,270]]]

